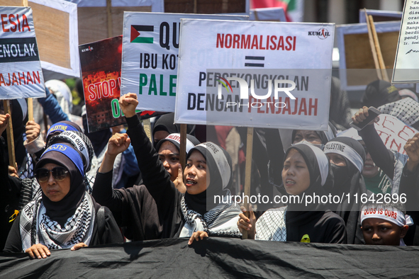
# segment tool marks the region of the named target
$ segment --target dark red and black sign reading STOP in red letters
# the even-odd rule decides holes
[[[125,124],[119,108],[122,36],[79,46],[89,132]],[[161,113],[140,111],[140,119]]]

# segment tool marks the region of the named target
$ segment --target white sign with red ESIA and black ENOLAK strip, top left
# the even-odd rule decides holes
[[[45,97],[32,9],[0,6],[0,98]]]

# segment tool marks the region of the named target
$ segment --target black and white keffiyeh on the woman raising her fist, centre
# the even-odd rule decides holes
[[[186,221],[181,230],[180,237],[190,237],[194,232],[203,231],[209,237],[241,237],[237,222],[240,214],[240,206],[231,203],[230,190],[223,197],[222,203],[208,210],[203,216],[189,209],[185,198],[181,198],[181,212]]]

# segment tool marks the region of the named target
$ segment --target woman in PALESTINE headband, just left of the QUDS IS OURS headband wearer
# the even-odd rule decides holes
[[[341,203],[330,204],[331,209],[345,221],[347,243],[364,244],[362,231],[359,229],[360,203],[356,203],[354,197],[367,194],[361,174],[365,149],[356,139],[335,137],[325,145],[324,152],[330,160],[333,173],[333,185],[330,183],[325,190],[332,195],[344,197]]]

